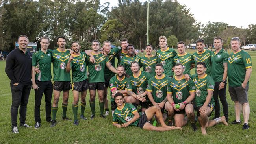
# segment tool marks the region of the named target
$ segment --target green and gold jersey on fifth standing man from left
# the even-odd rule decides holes
[[[91,53],[93,54],[93,52]],[[106,63],[108,63],[108,57],[106,57],[103,54],[93,54],[94,56],[94,63],[91,63],[89,61],[90,56],[86,57],[86,62],[88,63],[88,72],[89,77],[88,81],[89,83],[97,83],[97,82],[105,82],[104,78],[104,70]]]

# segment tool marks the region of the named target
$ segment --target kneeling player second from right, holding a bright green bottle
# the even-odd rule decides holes
[[[195,113],[191,101],[195,98],[195,84],[191,79],[186,81],[184,78],[184,67],[181,63],[174,66],[175,77],[171,79],[171,96],[167,96],[168,102],[165,108],[168,110],[169,116],[172,118],[174,115],[175,126],[182,127],[187,124],[185,113],[189,119],[194,131],[197,130],[195,125]],[[171,104],[170,104],[171,103]],[[180,105],[179,108],[175,104]]]

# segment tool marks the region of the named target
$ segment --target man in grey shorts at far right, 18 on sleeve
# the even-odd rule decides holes
[[[240,49],[241,43],[238,37],[232,38],[230,44],[233,52],[228,58],[228,91],[231,100],[235,102],[236,113],[236,120],[232,124],[241,123],[240,114],[241,110],[243,110],[243,129],[249,129],[250,106],[248,90],[249,79],[252,73],[252,60],[247,52]]]

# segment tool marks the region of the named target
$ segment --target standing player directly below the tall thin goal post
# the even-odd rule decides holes
[[[140,65],[142,66],[143,71],[149,72],[153,77],[156,75],[155,65],[156,65],[157,57],[152,55],[152,50],[153,50],[153,47],[150,44],[148,44],[145,48],[146,55],[141,57]]]

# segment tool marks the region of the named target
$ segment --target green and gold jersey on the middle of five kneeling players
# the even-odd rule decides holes
[[[160,79],[156,78],[156,76],[149,79],[147,91],[152,93],[156,103],[162,102],[166,98],[167,93],[171,93],[170,80],[171,78],[165,76],[165,74]]]

